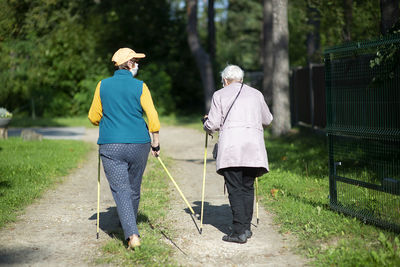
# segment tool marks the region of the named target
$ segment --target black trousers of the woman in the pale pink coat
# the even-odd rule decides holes
[[[233,235],[241,235],[245,230],[250,230],[253,218],[254,179],[257,168],[226,168],[222,170],[222,174],[232,209]]]

